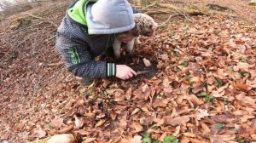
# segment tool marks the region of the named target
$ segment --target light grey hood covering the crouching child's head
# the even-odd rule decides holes
[[[126,0],[98,0],[86,11],[89,34],[113,34],[134,26],[133,11]]]

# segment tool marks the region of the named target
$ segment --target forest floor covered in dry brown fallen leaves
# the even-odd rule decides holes
[[[256,141],[256,8],[245,0],[168,3],[229,9],[179,12],[179,20],[151,14],[160,25],[154,37],[142,37],[116,61],[149,72],[126,81],[96,80],[91,87],[80,85],[55,51],[67,3],[3,20],[0,141],[62,133],[97,143]],[[152,66],[144,67],[143,58]]]

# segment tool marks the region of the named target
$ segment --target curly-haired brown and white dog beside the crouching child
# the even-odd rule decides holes
[[[134,21],[135,27],[131,31],[126,31],[120,33],[118,37],[114,40],[113,43],[113,53],[116,59],[120,58],[120,48],[121,48],[121,41],[119,41],[119,37],[127,37],[127,35],[132,34],[136,36],[130,42],[126,43],[127,51],[131,52],[133,49],[134,43],[140,44],[139,41],[140,36],[150,37],[153,36],[154,30],[157,28],[158,24],[154,22],[154,19],[150,17],[148,14],[134,14]]]

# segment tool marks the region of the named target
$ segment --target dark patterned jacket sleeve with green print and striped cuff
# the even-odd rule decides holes
[[[91,57],[87,43],[74,41],[58,34],[55,48],[65,61],[68,71],[77,77],[104,78],[116,74],[115,64],[96,61]]]

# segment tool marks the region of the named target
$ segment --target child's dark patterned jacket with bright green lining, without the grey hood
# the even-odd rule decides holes
[[[104,53],[113,45],[115,35],[91,35],[88,33],[86,8],[92,3],[95,2],[79,0],[67,10],[61,26],[57,30],[55,49],[65,60],[68,71],[73,72],[77,77],[104,78],[115,76],[115,64],[95,60],[96,56]]]

